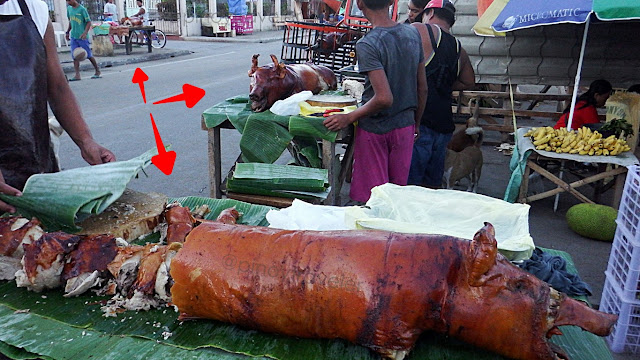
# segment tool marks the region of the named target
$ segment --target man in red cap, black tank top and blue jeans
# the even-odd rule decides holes
[[[432,0],[422,13],[426,31],[418,28],[423,36],[429,90],[420,137],[413,144],[409,185],[441,187],[446,148],[455,130],[451,92],[475,86],[469,55],[451,35],[455,12],[449,0]]]

